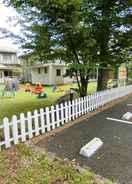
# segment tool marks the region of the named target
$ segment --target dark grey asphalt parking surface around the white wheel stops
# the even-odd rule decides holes
[[[126,101],[105,110],[88,120],[64,129],[54,137],[37,143],[62,158],[76,159],[96,174],[121,184],[132,184],[132,125],[106,120],[121,119],[125,112],[132,112],[132,96]],[[80,148],[98,137],[103,146],[90,158],[79,155]]]

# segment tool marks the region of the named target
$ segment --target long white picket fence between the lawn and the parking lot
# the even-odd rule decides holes
[[[132,85],[97,92],[72,102],[28,112],[26,115],[21,113],[20,118],[15,115],[11,120],[4,118],[3,125],[0,126],[0,148],[9,148],[12,144],[49,132],[130,93]]]

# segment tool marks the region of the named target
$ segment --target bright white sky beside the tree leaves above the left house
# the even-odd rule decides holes
[[[0,27],[6,28],[9,31],[12,31],[14,33],[20,32],[20,25],[17,24],[18,19],[14,20],[13,22],[10,21],[9,17],[18,17],[17,12],[15,9],[11,7],[6,7],[0,0]],[[1,36],[1,32],[0,32]],[[13,44],[13,40],[11,38],[6,39],[0,39],[0,46],[12,46],[17,48],[18,46]]]

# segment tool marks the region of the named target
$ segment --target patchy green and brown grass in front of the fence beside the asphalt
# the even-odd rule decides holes
[[[0,183],[3,184],[102,184],[91,171],[80,174],[73,164],[49,160],[24,144],[0,154]],[[108,181],[103,184],[112,184]]]

